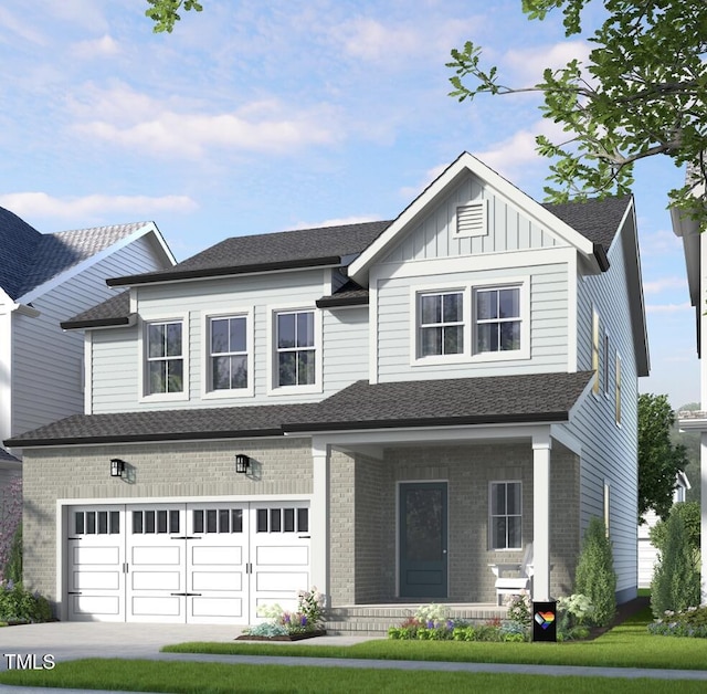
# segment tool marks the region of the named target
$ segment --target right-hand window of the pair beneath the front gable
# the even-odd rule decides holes
[[[520,287],[475,291],[477,354],[520,349]]]

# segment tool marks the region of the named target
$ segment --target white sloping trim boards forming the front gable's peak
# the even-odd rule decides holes
[[[388,252],[401,234],[408,231],[410,224],[414,222],[416,217],[422,213],[437,196],[442,194],[469,172],[482,179],[518,209],[523,210],[524,214],[532,219],[536,223],[557,234],[570,245],[573,245],[590,260],[590,262],[593,262],[599,270],[606,271],[609,269],[603,243],[584,236],[577,229],[573,229],[563,221],[560,215],[553,214],[546,207],[536,202],[530,196],[523,192],[503,176],[496,174],[496,171],[479,161],[476,157],[464,151],[351,263],[349,266],[349,276],[359,284],[365,284],[369,267]],[[597,204],[602,203],[602,201],[595,202]],[[615,232],[615,229],[613,231]],[[604,234],[602,234],[602,236]]]

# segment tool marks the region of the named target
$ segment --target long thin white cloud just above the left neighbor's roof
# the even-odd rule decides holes
[[[103,217],[107,213],[129,213],[131,218],[154,212],[191,212],[198,204],[188,196],[105,196],[54,198],[45,192],[15,192],[0,196],[0,206],[19,217],[74,220]]]

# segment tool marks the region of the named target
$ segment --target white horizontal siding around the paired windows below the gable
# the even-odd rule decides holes
[[[401,277],[378,283],[378,379],[382,381],[418,380],[467,376],[496,376],[538,371],[564,371],[568,360],[568,266],[561,263],[509,267],[475,273],[450,273],[433,278],[434,286],[454,290],[474,287],[517,278],[526,280],[529,291],[529,358],[484,359],[469,357],[472,346],[465,344],[466,359],[456,355],[447,364],[425,365],[415,361],[416,293],[428,290],[429,277]],[[465,294],[464,319],[472,320],[472,296]],[[472,337],[473,339],[473,330]],[[494,355],[495,357],[496,355]],[[479,358],[481,357],[481,358]],[[443,361],[443,360],[442,360]],[[412,364],[414,362],[414,364]]]

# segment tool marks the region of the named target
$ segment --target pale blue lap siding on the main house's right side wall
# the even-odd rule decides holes
[[[604,482],[610,485],[610,537],[614,551],[616,590],[636,585],[637,520],[637,378],[632,318],[624,270],[623,234],[609,252],[611,267],[597,276],[578,280],[578,369],[592,369],[592,308],[600,322],[600,392],[589,393],[569,429],[581,440],[582,532],[592,516],[604,518]],[[609,334],[609,395],[602,374],[606,359],[604,334]],[[621,424],[615,421],[615,354],[621,356]]]

